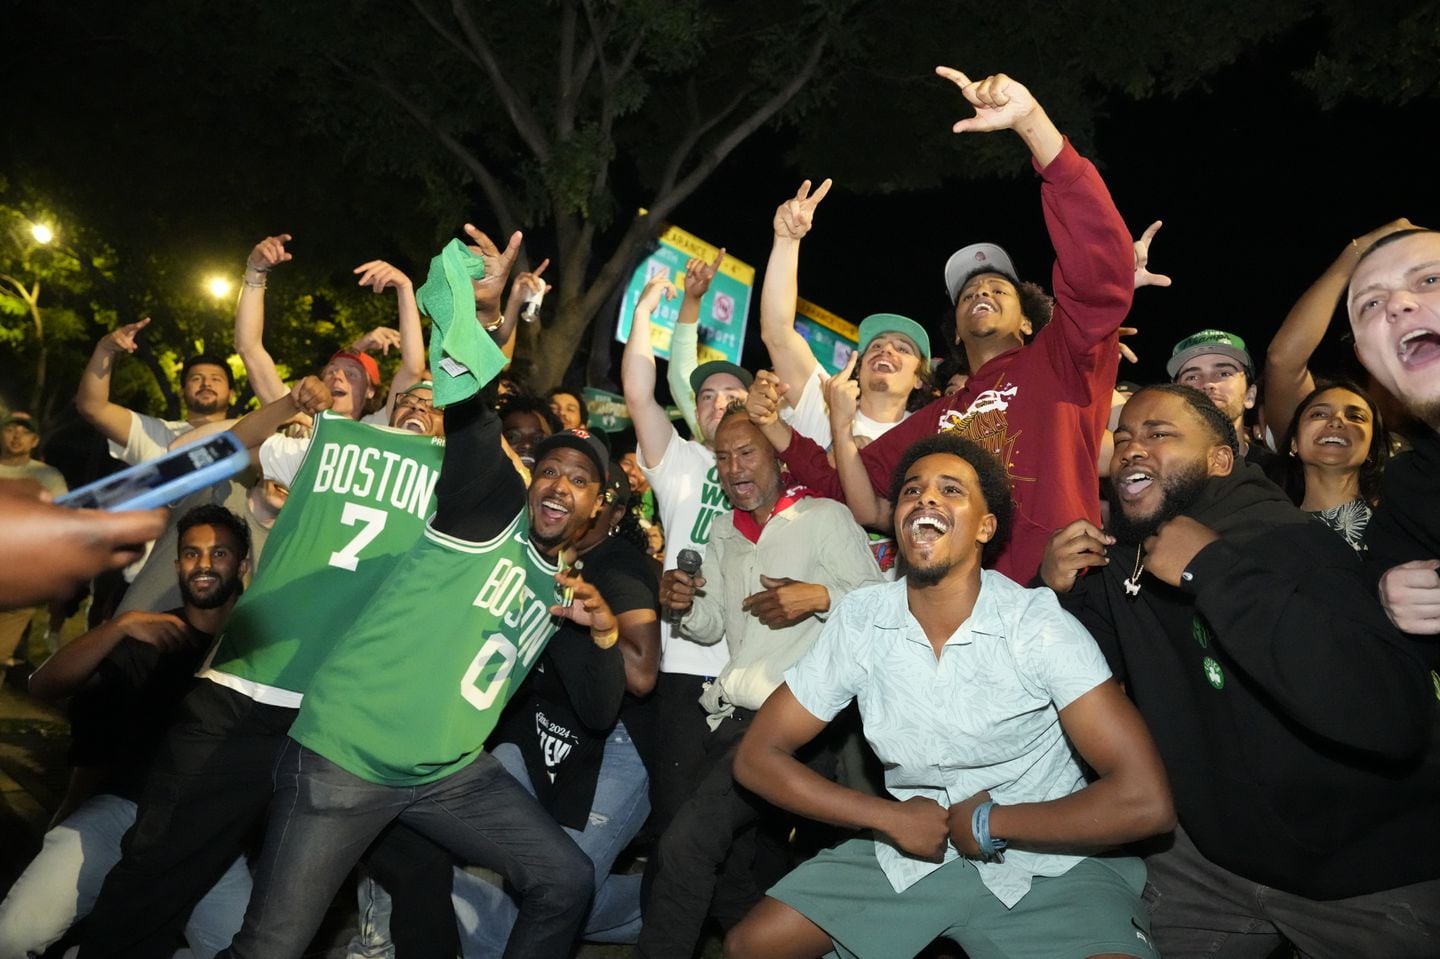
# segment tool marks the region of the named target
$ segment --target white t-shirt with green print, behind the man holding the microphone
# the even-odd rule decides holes
[[[730,511],[730,501],[716,475],[714,452],[693,439],[681,439],[671,429],[658,464],[647,464],[641,451],[636,451],[635,461],[655,491],[660,523],[665,527],[665,569],[675,569],[675,557],[683,549],[704,556],[711,524]],[[703,647],[664,623],[660,634],[661,672],[716,677],[729,659],[730,651],[723,642]]]

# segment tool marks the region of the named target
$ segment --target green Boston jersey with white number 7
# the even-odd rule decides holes
[[[435,436],[321,415],[203,675],[261,703],[300,706],[336,638],[420,537],[444,454]]]

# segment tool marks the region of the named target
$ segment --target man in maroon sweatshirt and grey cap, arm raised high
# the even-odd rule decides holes
[[[891,474],[923,436],[955,432],[981,444],[1011,478],[1015,528],[995,569],[1027,582],[1045,537],[1076,515],[1100,520],[1097,459],[1115,386],[1119,328],[1135,285],[1135,251],[1094,166],[1084,160],[1020,82],[996,73],[971,81],[950,68],[975,115],[956,132],[1012,130],[1041,177],[1040,197],[1056,249],[1051,301],[1021,282],[994,243],[973,243],[945,265],[955,304],[955,343],[972,376],[952,396],[924,406],[858,452],[863,475],[847,482],[814,442],[772,435],[795,477],[818,494],[850,500],[865,524],[884,523]],[[838,458],[837,458],[838,459]],[[873,494],[852,497],[868,477]]]

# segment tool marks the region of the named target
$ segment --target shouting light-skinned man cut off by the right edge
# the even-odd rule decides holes
[[[1420,428],[1385,468],[1365,544],[1381,600],[1405,632],[1427,636],[1440,668],[1440,233],[1391,233],[1361,252],[1346,302],[1355,353]]]

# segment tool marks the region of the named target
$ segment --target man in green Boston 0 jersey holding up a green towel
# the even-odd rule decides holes
[[[615,616],[562,569],[562,550],[603,507],[608,454],[585,431],[556,433],[537,448],[528,492],[503,455],[500,418],[480,389],[504,354],[478,336],[500,317],[500,288],[475,284],[471,312],[471,278],[482,269],[481,282],[503,288],[520,235],[500,253],[467,230],[477,246],[452,242],[419,291],[446,419],[435,515],[305,693],[229,956],[300,956],[350,867],[395,821],[505,875],[520,900],[505,956],[567,955],[589,907],[589,860],[482,743],[566,619],[567,631],[589,628],[572,638],[588,667],[618,680],[616,701],[596,713],[619,706]]]

